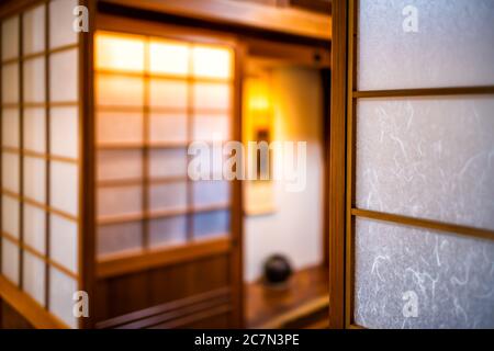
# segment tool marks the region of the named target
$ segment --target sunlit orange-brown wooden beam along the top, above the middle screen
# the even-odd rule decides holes
[[[293,8],[231,0],[100,0],[100,2],[307,38],[332,39],[329,14]]]

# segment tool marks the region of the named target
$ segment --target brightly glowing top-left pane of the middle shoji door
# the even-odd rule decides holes
[[[144,37],[98,32],[96,35],[97,69],[144,71]]]

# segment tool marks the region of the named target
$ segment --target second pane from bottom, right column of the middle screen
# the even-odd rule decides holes
[[[227,205],[229,203],[229,189],[231,183],[227,181],[193,182],[194,207]]]

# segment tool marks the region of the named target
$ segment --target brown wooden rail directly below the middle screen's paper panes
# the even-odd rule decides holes
[[[135,273],[157,267],[165,267],[198,260],[205,257],[228,253],[232,247],[229,238],[192,241],[180,247],[161,250],[148,250],[131,254],[115,254],[100,259],[97,263],[97,278],[106,279]]]

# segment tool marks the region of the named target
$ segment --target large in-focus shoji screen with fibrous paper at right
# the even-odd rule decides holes
[[[494,327],[494,2],[350,1],[347,326]]]

